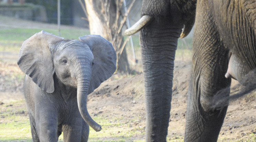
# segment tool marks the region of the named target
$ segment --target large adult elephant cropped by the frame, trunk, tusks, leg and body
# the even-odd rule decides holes
[[[227,111],[215,107],[218,96],[229,96],[231,77],[245,84],[256,67],[255,12],[255,0],[143,0],[126,35],[141,30],[147,141],[166,141],[177,40],[194,23],[185,141],[217,141]]]

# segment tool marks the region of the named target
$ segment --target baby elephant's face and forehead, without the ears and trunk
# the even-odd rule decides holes
[[[65,85],[77,88],[77,79],[84,76],[90,80],[94,66],[91,48],[79,40],[62,40],[50,46],[53,66],[58,79]]]

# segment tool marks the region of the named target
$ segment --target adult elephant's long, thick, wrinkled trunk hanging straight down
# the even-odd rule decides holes
[[[146,141],[166,141],[175,50],[183,25],[159,17],[140,32],[146,93]]]

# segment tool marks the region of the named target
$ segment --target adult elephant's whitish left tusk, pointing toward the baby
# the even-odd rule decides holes
[[[143,15],[137,23],[125,30],[125,35],[129,36],[139,32],[142,28],[146,27],[152,20],[153,16]]]

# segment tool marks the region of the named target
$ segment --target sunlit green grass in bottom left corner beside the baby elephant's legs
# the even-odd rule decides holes
[[[0,110],[0,141],[32,139],[25,100],[3,104]]]

